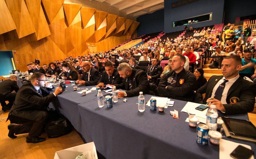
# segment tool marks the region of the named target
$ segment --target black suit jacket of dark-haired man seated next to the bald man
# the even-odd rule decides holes
[[[113,74],[108,78],[108,74],[106,71],[103,71],[102,76],[97,84],[104,83],[104,84],[120,84],[123,82],[122,78],[120,77],[117,69],[114,69]]]

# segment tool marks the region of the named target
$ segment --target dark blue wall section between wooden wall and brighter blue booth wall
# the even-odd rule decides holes
[[[141,22],[137,27],[137,37],[164,31],[164,9],[139,16],[137,22]]]

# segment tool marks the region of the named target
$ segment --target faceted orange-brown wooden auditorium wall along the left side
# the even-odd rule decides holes
[[[137,37],[139,22],[64,0],[0,0],[0,50],[15,50],[17,69],[107,51]],[[18,62],[16,62],[18,60]]]

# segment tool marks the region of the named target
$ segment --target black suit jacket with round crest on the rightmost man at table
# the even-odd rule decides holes
[[[199,88],[195,94],[195,102],[206,104],[206,100],[211,97],[212,90],[216,83],[223,76],[212,76],[205,85]],[[205,93],[203,100],[202,94]],[[256,95],[256,84],[239,77],[228,90],[226,102],[223,104],[226,109],[225,114],[240,114],[253,111]]]

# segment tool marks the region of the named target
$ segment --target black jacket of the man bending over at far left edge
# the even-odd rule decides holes
[[[18,90],[19,90],[17,82],[10,80],[10,79],[0,82],[0,95],[7,96],[14,90],[15,90],[15,92],[18,92]]]

